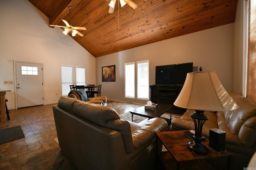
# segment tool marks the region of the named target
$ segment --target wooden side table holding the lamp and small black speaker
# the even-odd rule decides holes
[[[208,140],[202,141],[204,145],[206,145],[209,148],[209,152],[206,155],[199,155],[197,154],[196,157],[191,150],[187,147],[187,142],[190,141],[188,137],[186,137],[183,134],[184,131],[164,131],[164,132],[156,132],[157,136],[157,145],[156,146],[162,146],[166,148],[168,152],[159,152],[159,150],[162,150],[158,148],[158,155],[162,158],[166,158],[165,160],[162,159],[166,169],[175,169],[175,163],[176,163],[176,169],[186,169],[186,166],[193,166],[193,162],[195,164],[199,164],[198,160],[200,162],[203,162],[203,166],[210,166],[209,164],[205,164],[205,160],[212,159],[212,158],[227,158],[227,166],[228,169],[230,168],[230,157],[231,154],[224,150],[222,152],[217,152],[216,150],[208,147]],[[162,144],[162,145],[159,145]],[[197,160],[198,159],[198,160]],[[188,164],[189,162],[189,164]],[[171,164],[170,166],[168,164]],[[200,165],[195,165],[200,166]],[[188,168],[192,169],[192,168]],[[195,167],[195,169],[197,169]],[[205,167],[205,169],[208,169],[208,167]]]

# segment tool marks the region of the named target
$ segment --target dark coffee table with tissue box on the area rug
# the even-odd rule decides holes
[[[149,119],[151,119],[154,117],[160,117],[166,111],[169,111],[169,110],[171,111],[172,107],[173,106],[171,105],[157,104],[154,110],[150,110],[150,109],[145,109],[145,106],[142,106],[130,111],[130,113],[132,113],[132,121],[133,121],[133,115],[148,117]],[[172,119],[171,115],[170,115],[170,119]]]

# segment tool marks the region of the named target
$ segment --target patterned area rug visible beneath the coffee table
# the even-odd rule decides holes
[[[130,112],[121,114],[121,115],[119,115],[119,117],[122,120],[132,121],[132,114]],[[165,118],[165,119],[170,119],[170,113],[164,113],[160,117]],[[144,121],[145,119],[148,119],[148,118],[142,117],[142,116],[138,116],[138,115],[133,115],[133,121],[136,122],[136,123],[140,123],[140,122]],[[172,120],[173,119],[180,119],[180,116],[172,115]]]

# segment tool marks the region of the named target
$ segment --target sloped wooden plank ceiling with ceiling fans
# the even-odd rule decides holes
[[[133,0],[108,13],[110,0],[29,0],[52,25],[86,27],[73,37],[94,57],[233,23],[238,0]],[[72,6],[71,17],[68,6]],[[71,36],[71,33],[70,33]]]

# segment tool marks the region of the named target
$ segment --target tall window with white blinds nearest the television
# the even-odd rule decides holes
[[[149,60],[137,62],[137,98],[149,100]]]

